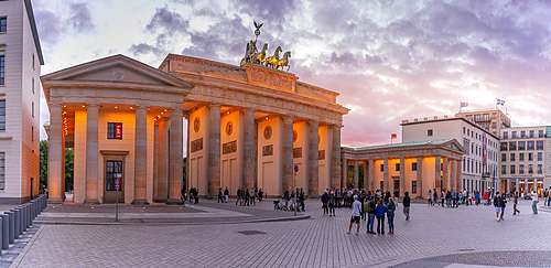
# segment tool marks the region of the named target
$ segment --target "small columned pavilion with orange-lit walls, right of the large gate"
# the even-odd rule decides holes
[[[426,199],[429,190],[461,189],[464,149],[455,139],[413,141],[396,144],[342,147],[343,185],[348,185],[348,167],[354,165],[353,187],[398,191],[400,196]],[[364,183],[359,183],[359,164]]]

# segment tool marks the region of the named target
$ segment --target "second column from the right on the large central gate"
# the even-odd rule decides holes
[[[309,195],[320,195],[320,122],[310,121],[310,147],[309,147]]]

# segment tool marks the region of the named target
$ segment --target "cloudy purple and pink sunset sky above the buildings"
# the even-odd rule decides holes
[[[169,53],[239,65],[257,21],[268,54],[291,51],[300,81],[341,94],[343,146],[400,141],[403,119],[455,115],[461,101],[504,99],[512,126],[551,125],[550,1],[32,2],[43,75],[115,54],[154,67]]]

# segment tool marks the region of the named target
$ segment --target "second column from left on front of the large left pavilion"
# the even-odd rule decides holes
[[[84,204],[99,204],[98,117],[99,106],[97,104],[86,104],[86,199]]]

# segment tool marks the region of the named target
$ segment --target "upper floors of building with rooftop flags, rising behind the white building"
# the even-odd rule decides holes
[[[476,124],[478,127],[498,137],[504,128],[511,127],[511,120],[500,109],[483,109],[461,111],[455,117],[463,117],[467,121]]]

